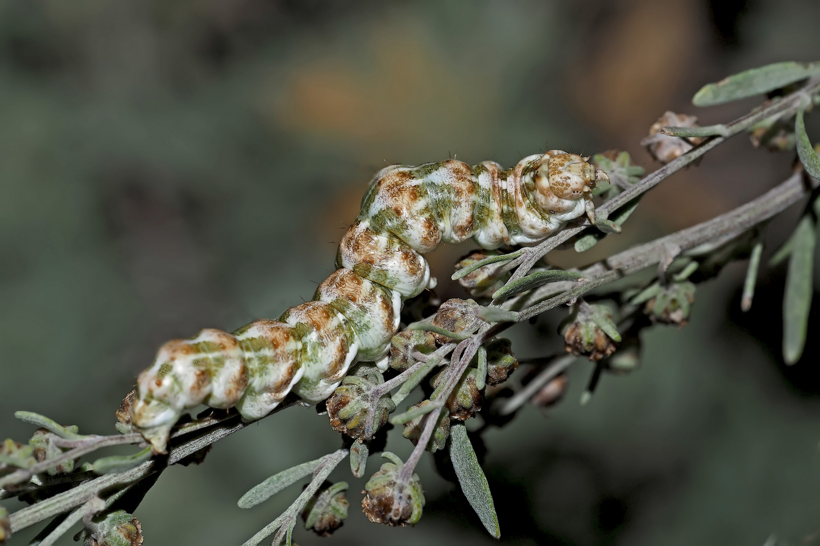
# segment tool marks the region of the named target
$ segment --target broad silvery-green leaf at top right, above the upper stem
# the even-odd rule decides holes
[[[708,83],[695,93],[692,104],[713,106],[741,98],[762,95],[801,79],[820,74],[820,63],[777,62],[733,74],[717,83]]]

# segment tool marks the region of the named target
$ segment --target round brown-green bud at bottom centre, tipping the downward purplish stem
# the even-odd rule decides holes
[[[379,472],[371,476],[362,493],[362,511],[373,523],[385,523],[389,526],[413,525],[421,519],[421,508],[424,507],[424,493],[417,474],[413,474],[407,485],[399,485],[399,473],[404,466],[402,460],[394,453],[385,451],[382,458],[393,463],[384,463]],[[401,490],[398,490],[401,488]],[[399,494],[399,510],[393,512],[396,495]]]

